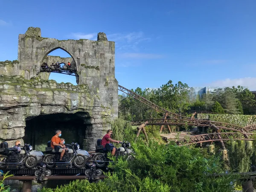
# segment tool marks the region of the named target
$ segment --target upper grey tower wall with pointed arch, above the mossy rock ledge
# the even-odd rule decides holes
[[[30,79],[40,70],[44,58],[55,49],[63,49],[75,61],[78,84],[87,84],[100,98],[101,105],[118,116],[118,82],[115,79],[115,43],[99,33],[98,41],[42,38],[40,28],[30,27],[19,35],[18,75]]]

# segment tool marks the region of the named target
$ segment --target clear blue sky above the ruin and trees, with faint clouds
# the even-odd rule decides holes
[[[116,79],[129,89],[172,80],[256,90],[255,0],[9,0],[0,6],[0,61],[17,59],[18,34],[29,26],[59,40],[95,40],[105,32],[116,42]]]

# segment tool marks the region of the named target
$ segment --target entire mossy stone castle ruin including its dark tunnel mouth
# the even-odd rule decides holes
[[[71,58],[47,56],[55,49]],[[48,80],[46,72],[38,74],[43,62],[57,60],[76,67],[78,85]],[[105,33],[99,33],[97,41],[60,41],[43,38],[40,28],[29,27],[19,35],[18,60],[0,62],[0,141],[13,145],[22,140],[44,151],[60,129],[66,143],[94,150],[117,116],[115,43]]]

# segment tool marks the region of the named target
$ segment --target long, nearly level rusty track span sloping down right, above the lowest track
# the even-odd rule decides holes
[[[145,121],[148,121],[147,125],[191,125],[191,126],[202,126],[209,127],[211,125],[215,125],[220,129],[227,129],[232,131],[238,131],[241,133],[245,133],[244,128],[233,125],[229,123],[223,122],[215,122],[201,119],[141,119],[131,121],[131,125],[141,125]]]

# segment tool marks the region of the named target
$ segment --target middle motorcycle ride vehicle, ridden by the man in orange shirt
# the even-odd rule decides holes
[[[91,157],[90,154],[85,150],[80,150],[80,146],[77,143],[71,143],[71,145],[67,144],[66,146],[69,147],[69,149],[62,157],[62,160],[59,160],[61,151],[65,149],[60,148],[59,151],[56,152],[55,149],[51,147],[51,141],[48,141],[46,147],[46,153],[48,154],[45,155],[43,159],[43,162],[48,168],[69,169],[72,168],[73,165],[77,168],[83,168],[85,166],[87,160]]]

